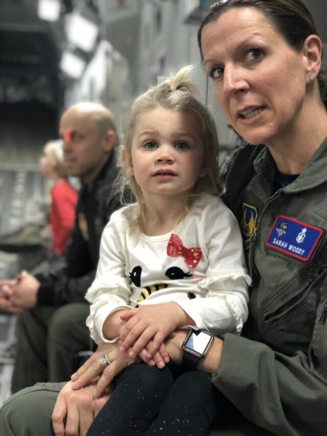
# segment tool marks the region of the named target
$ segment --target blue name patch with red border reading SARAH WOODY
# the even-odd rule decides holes
[[[266,245],[294,258],[308,261],[322,233],[320,227],[279,215],[270,229]]]

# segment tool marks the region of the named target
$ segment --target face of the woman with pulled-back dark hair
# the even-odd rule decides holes
[[[206,73],[231,125],[250,144],[296,129],[306,95],[304,52],[294,51],[255,8],[234,8],[202,30]]]

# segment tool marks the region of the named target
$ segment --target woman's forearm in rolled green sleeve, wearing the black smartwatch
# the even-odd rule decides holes
[[[176,364],[182,359],[185,331],[165,341]],[[214,339],[197,369],[254,424],[273,434],[324,436],[327,385],[312,374],[314,363],[304,353],[285,356],[264,343],[233,334]],[[320,366],[321,369],[321,366]]]

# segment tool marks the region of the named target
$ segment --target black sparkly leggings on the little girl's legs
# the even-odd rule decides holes
[[[87,436],[206,435],[217,416],[215,394],[203,371],[134,363],[119,375]]]

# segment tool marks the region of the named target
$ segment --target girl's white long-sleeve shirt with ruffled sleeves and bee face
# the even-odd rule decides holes
[[[102,328],[116,310],[171,301],[194,319],[195,325],[186,328],[239,333],[248,315],[251,279],[239,225],[222,200],[203,195],[174,231],[160,236],[130,227],[137,210],[134,203],[114,212],[104,229],[96,278],[86,293],[91,337],[97,343],[111,342]],[[184,247],[201,249],[195,268],[183,256],[168,256],[172,234]]]

